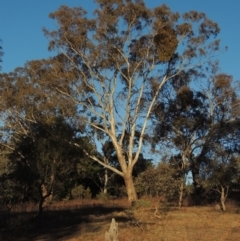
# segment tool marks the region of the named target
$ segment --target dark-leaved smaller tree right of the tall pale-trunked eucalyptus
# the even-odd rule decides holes
[[[166,101],[158,103],[155,109],[158,121],[154,144],[161,143],[178,152],[173,159],[183,174],[192,172],[196,202],[206,193],[210,179],[218,185],[217,179],[222,183],[229,179],[232,170],[221,158],[236,156],[240,149],[239,115],[232,108],[238,91],[233,88],[232,76],[219,73],[218,64],[210,65],[205,75],[209,75],[205,88],[198,84],[190,88],[191,73],[183,72],[166,86]]]

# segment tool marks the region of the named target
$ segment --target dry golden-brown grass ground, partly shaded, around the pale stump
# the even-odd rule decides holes
[[[21,213],[18,208],[15,219],[23,221],[10,230],[2,229],[5,232],[2,238],[6,241],[103,241],[114,217],[119,224],[120,241],[240,239],[239,207],[228,207],[226,213],[214,207],[171,209],[161,214],[160,219],[154,216],[155,203],[156,200],[144,201],[134,209],[129,208],[126,200],[55,203],[46,208],[41,223],[33,218],[36,213]],[[34,208],[28,207],[29,210]],[[15,219],[13,217],[12,222]]]

